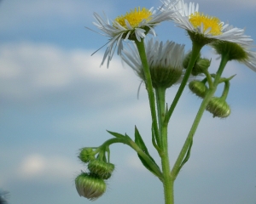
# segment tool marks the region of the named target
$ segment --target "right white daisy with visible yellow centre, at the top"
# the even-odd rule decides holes
[[[229,26],[217,17],[200,13],[198,3],[188,4],[184,3],[183,0],[177,3],[172,3],[172,0],[166,0],[163,3],[165,4],[165,7],[162,8],[163,10],[175,11],[172,20],[177,26],[188,31],[192,41],[197,39],[205,40],[206,43],[209,43],[214,40],[221,40],[240,44],[253,42],[249,36],[244,35],[244,29]]]

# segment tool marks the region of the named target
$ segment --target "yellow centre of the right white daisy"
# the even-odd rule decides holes
[[[212,34],[212,36],[218,36],[222,34],[222,24],[217,17],[212,17],[200,14],[199,12],[195,12],[194,14],[190,14],[189,21],[195,28],[203,24],[204,32],[207,31],[208,28],[211,28],[211,31],[209,33]]]

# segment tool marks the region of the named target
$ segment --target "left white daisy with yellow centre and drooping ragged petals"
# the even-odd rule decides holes
[[[94,25],[102,31],[103,36],[109,37],[108,48],[102,59],[102,65],[108,58],[108,65],[113,57],[115,48],[120,54],[123,49],[123,40],[132,40],[140,42],[142,38],[149,33],[155,36],[154,26],[164,20],[171,20],[174,11],[155,11],[154,8],[134,8],[125,15],[120,15],[114,20],[108,20],[106,14],[102,18],[99,14],[94,13],[96,22]]]

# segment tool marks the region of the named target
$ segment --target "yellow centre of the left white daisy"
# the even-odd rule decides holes
[[[126,23],[125,20],[127,20],[131,27],[135,28],[137,26],[139,26],[139,24],[143,21],[143,20],[151,20],[150,16],[152,15],[152,12],[149,11],[147,8],[134,8],[134,10],[131,10],[130,13],[126,13],[125,15],[120,15],[118,16],[114,21],[118,22],[119,25],[125,27],[126,29]],[[114,26],[114,23],[113,23]]]

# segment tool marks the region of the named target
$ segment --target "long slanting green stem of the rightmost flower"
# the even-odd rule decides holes
[[[215,93],[217,87],[218,87],[218,81],[222,75],[222,72],[224,71],[224,67],[227,64],[227,62],[229,61],[228,55],[223,55],[216,77],[214,78],[214,82],[212,85],[212,88],[209,88],[206,97],[203,99],[200,109],[197,112],[197,115],[195,116],[195,121],[192,125],[192,127],[190,128],[189,131],[189,135],[187,137],[187,139],[185,140],[185,143],[183,144],[183,148],[180,151],[179,155],[177,156],[177,160],[172,168],[172,178],[176,178],[177,177],[177,173],[179,173],[180,171],[180,166],[183,162],[184,157],[186,156],[188,150],[189,150],[189,146],[191,144],[191,142],[193,141],[193,137],[196,131],[196,128],[199,125],[199,122],[201,121],[201,116],[203,115],[205,109],[207,108],[208,102],[210,101],[210,99],[212,99],[213,94]]]

